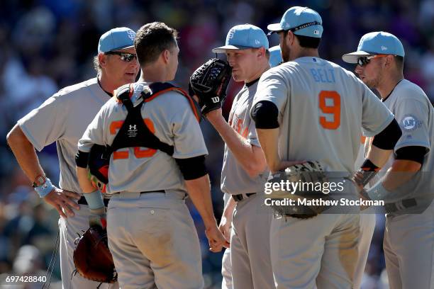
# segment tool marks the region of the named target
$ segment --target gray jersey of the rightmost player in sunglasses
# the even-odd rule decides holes
[[[395,145],[394,152],[402,147],[419,146],[426,148],[423,165],[411,182],[386,196],[386,203],[406,198],[423,198],[430,202],[434,197],[434,108],[425,92],[411,81],[403,79],[396,85],[384,104],[394,113],[402,130],[401,138]],[[368,146],[372,142],[369,139]],[[394,162],[394,155],[383,166],[387,171]],[[429,203],[423,202],[423,206]]]

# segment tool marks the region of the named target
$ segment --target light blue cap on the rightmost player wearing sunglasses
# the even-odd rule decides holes
[[[343,55],[347,63],[357,63],[359,57],[373,55],[397,55],[404,57],[404,46],[395,35],[384,31],[367,33],[360,38],[356,52]]]

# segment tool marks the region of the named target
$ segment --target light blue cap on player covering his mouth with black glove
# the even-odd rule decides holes
[[[226,45],[213,48],[214,53],[225,53],[226,50],[269,47],[265,32],[254,25],[242,24],[230,28],[226,36]]]

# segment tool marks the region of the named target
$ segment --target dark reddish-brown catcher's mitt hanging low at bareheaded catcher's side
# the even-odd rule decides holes
[[[90,227],[79,237],[74,250],[74,265],[77,272],[89,280],[103,283],[118,280],[105,229]]]

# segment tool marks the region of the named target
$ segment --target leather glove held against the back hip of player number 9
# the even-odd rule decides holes
[[[278,215],[285,215],[289,217],[297,217],[300,219],[308,219],[315,217],[319,213],[328,209],[323,205],[304,205],[304,200],[331,200],[328,194],[323,193],[316,188],[322,188],[322,183],[327,182],[327,178],[323,172],[323,168],[319,162],[304,162],[303,164],[296,164],[289,166],[284,171],[277,171],[269,177],[268,183],[298,183],[295,191],[294,187],[289,184],[290,191],[283,191],[282,186],[278,190],[267,193],[267,198],[272,200],[294,200],[294,205],[272,205],[271,207],[277,212]],[[318,185],[319,183],[319,185]],[[272,188],[273,186],[270,186]]]

